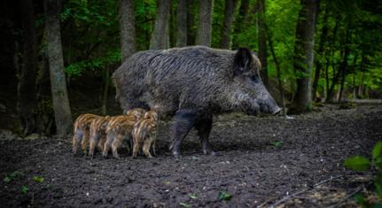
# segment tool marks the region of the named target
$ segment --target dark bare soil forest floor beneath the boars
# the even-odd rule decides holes
[[[157,157],[74,157],[71,138],[0,137],[0,204],[54,207],[320,207],[355,206],[370,194],[370,172],[343,166],[370,158],[382,140],[382,105],[316,107],[292,118],[228,114],[214,118],[216,156],[200,153],[192,131],[183,158],[168,151],[160,123]],[[219,197],[220,196],[220,197]],[[230,197],[231,196],[231,197]],[[227,199],[227,200],[225,200]],[[228,200],[230,199],[230,200]],[[284,200],[283,200],[284,199]]]

